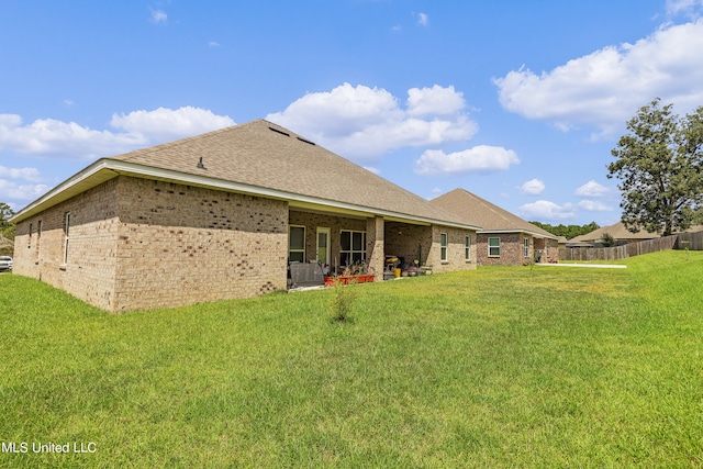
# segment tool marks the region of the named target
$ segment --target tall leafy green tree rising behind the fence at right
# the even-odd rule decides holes
[[[656,98],[627,122],[611,150],[611,179],[620,179],[622,222],[668,236],[691,226],[703,203],[703,107],[683,119]]]

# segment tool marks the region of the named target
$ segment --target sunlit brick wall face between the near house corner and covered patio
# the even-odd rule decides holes
[[[120,178],[116,310],[286,289],[288,203]]]

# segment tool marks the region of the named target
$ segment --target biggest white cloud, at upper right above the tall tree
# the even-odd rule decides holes
[[[689,111],[703,102],[703,20],[665,26],[635,44],[607,46],[537,75],[522,67],[494,79],[501,104],[568,131],[622,129],[660,97]]]

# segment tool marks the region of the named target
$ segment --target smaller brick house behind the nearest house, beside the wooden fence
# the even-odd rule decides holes
[[[558,236],[467,190],[455,189],[431,202],[456,213],[467,224],[481,226],[477,232],[479,265],[517,266],[532,260],[559,260]]]

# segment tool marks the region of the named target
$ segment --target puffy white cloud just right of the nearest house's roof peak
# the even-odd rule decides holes
[[[401,147],[466,142],[478,125],[461,112],[459,101],[464,97],[453,87],[413,88],[403,109],[384,89],[343,83],[308,93],[266,119],[347,158],[369,160]]]

